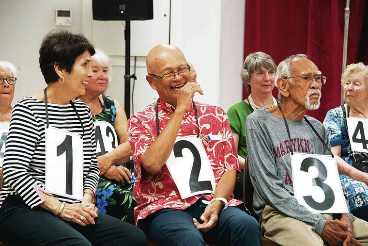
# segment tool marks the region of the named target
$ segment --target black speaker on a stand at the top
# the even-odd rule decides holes
[[[94,20],[153,19],[153,0],[92,0]]]

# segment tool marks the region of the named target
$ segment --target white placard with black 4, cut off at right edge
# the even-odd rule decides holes
[[[368,119],[347,117],[346,121],[352,150],[368,153]]]

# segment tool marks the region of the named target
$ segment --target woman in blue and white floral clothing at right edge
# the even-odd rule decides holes
[[[363,63],[347,66],[341,76],[341,84],[344,86],[346,115],[368,118],[368,67]],[[354,216],[368,221],[368,173],[352,166],[342,108],[328,111],[323,124],[330,134],[331,150],[337,156],[340,180],[348,193],[350,209]]]

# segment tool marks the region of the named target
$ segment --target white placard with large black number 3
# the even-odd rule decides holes
[[[294,196],[313,213],[348,213],[335,158],[330,155],[291,155]]]

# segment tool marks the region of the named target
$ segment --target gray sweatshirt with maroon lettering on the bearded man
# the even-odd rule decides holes
[[[323,124],[310,116],[307,119],[330,148]],[[246,118],[249,174],[254,186],[253,208],[261,216],[264,207],[269,205],[311,225],[321,235],[326,221],[300,205],[294,197],[289,153],[290,148],[310,154],[329,155],[329,151],[304,119],[287,122],[291,143],[282,118],[265,109],[255,110]]]

